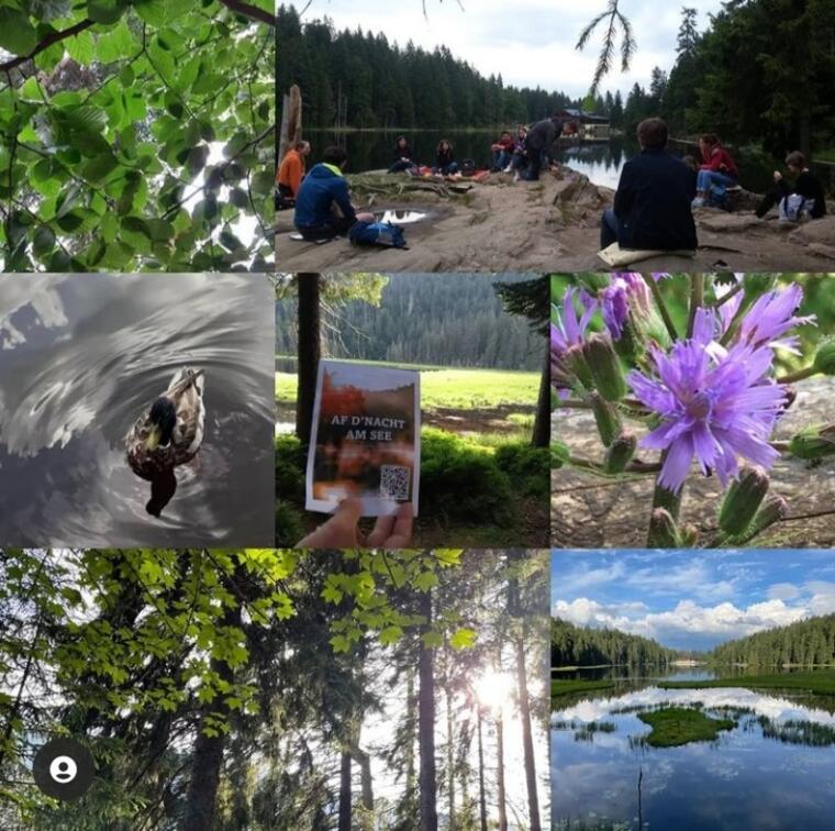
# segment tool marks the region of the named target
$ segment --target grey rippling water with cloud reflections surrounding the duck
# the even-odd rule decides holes
[[[271,331],[263,275],[0,277],[0,540],[271,545]],[[181,366],[205,437],[155,518],[124,436]]]

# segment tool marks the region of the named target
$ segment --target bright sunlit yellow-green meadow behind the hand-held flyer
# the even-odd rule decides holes
[[[387,366],[379,362],[375,365]],[[514,405],[536,407],[539,395],[538,373],[509,369],[449,369],[408,364],[397,366],[420,370],[421,407],[424,411],[477,410]],[[296,390],[294,373],[276,373],[276,398],[282,405],[296,403]],[[514,413],[514,416],[519,419],[525,418],[521,413]]]

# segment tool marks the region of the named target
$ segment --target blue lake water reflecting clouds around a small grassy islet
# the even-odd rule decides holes
[[[835,700],[743,688],[665,690],[652,684],[572,700],[552,713],[554,829],[584,822],[584,829],[638,831],[642,773],[644,829],[833,828],[833,746],[766,733],[786,731],[787,722],[833,730]],[[652,747],[641,742],[652,729],[637,712],[661,705],[701,706],[709,717],[736,719],[737,727],[712,742]],[[577,738],[584,724],[601,721],[614,730]]]

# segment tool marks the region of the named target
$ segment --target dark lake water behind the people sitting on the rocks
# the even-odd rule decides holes
[[[322,152],[329,144],[341,143],[348,154],[348,173],[378,170],[388,168],[394,155],[397,133],[348,132],[338,138],[329,131],[308,131],[307,137],[312,144],[311,160],[320,162]],[[415,158],[421,164],[432,165],[435,147],[442,138],[448,138],[455,148],[455,157],[471,158],[478,167],[491,164],[490,145],[497,140],[496,132],[458,132],[425,131],[407,134]],[[624,164],[638,152],[635,138],[615,136],[609,142],[589,142],[584,144],[566,144],[556,154],[556,159],[586,174],[595,185],[616,188]],[[697,155],[698,148],[679,142],[670,143],[670,152],[683,156]],[[737,165],[743,185],[748,190],[764,192],[771,187],[771,174],[779,160],[764,160],[760,156],[737,154]],[[815,170],[831,187],[835,187],[835,166],[821,167]]]

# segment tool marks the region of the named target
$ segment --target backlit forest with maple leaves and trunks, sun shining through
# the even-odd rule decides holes
[[[0,550],[0,826],[435,829],[436,793],[470,817],[471,678],[513,683],[506,746],[544,735],[546,585],[544,554]],[[29,769],[58,734],[98,768],[63,805]]]

